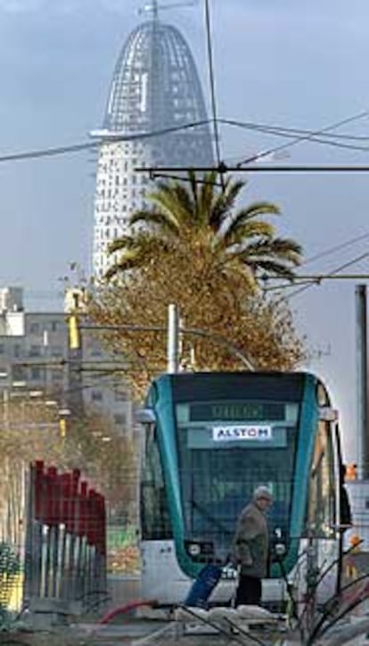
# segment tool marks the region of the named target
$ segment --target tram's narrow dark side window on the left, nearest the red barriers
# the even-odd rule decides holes
[[[160,451],[154,428],[148,430],[145,436],[140,505],[143,540],[172,538]]]

